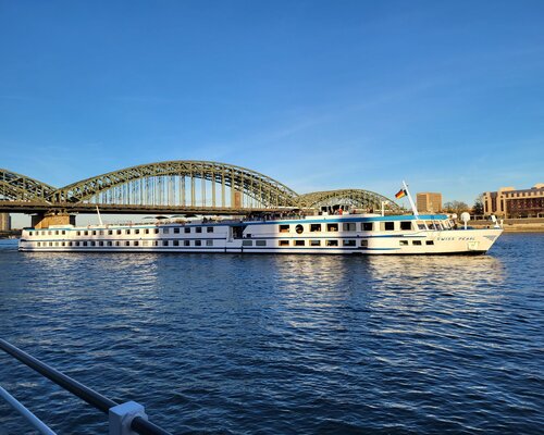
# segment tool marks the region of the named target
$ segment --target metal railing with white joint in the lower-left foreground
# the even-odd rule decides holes
[[[169,435],[170,433],[151,423],[147,420],[145,409],[141,405],[135,401],[125,403],[118,403],[101,394],[86,387],[85,385],[74,381],[58,370],[47,365],[23,350],[16,348],[4,339],[0,338],[0,349],[11,355],[25,365],[46,376],[47,378],[60,385],[62,388],[72,393],[73,395],[85,400],[96,409],[109,414],[110,435],[128,435],[132,431],[140,435]],[[15,410],[17,410],[30,424],[38,428],[41,423],[32,412],[17,402],[8,391],[1,388],[5,394],[0,395],[4,398]],[[11,399],[10,399],[11,398]],[[35,420],[33,420],[33,418]],[[41,423],[44,424],[44,423]],[[45,425],[44,425],[45,426]],[[44,431],[50,431],[45,426]],[[50,432],[40,432],[54,434]]]

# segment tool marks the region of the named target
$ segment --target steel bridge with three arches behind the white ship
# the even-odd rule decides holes
[[[91,210],[106,212],[166,212],[279,208],[320,208],[346,204],[379,209],[382,195],[363,189],[339,189],[298,195],[286,185],[256,171],[227,163],[177,160],[131,166],[55,188],[8,170],[0,170],[0,210],[21,202],[40,210]],[[14,210],[15,208],[12,207]],[[25,210],[29,210],[26,207]]]

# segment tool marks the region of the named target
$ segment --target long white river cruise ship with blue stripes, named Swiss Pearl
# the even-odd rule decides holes
[[[503,229],[446,215],[326,214],[24,229],[21,251],[433,254],[484,253]]]

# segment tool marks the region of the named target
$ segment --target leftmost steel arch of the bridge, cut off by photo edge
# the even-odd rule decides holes
[[[54,187],[46,183],[0,169],[0,199],[46,201],[54,190]]]

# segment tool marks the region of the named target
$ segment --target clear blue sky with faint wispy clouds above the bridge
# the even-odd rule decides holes
[[[473,203],[544,182],[544,1],[0,0],[0,167],[163,160]]]

